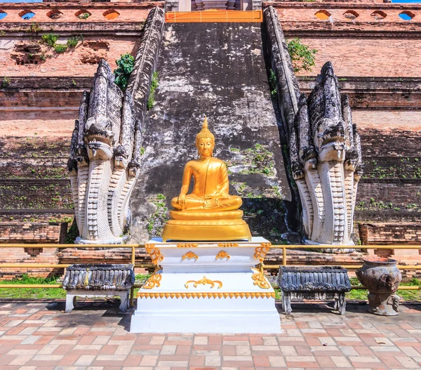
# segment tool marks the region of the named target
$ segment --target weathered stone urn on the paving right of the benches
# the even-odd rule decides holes
[[[369,311],[375,315],[398,315],[399,296],[396,294],[402,275],[392,258],[368,257],[356,270],[361,284],[368,289]]]

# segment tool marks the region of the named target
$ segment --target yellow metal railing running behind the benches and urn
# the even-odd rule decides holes
[[[134,267],[153,268],[156,267],[152,263],[135,263],[135,252],[137,248],[144,248],[145,244],[0,244],[2,248],[53,248],[53,249],[65,249],[65,248],[81,248],[81,249],[95,249],[95,248],[114,248],[114,249],[131,249],[131,264]],[[273,245],[271,249],[282,249],[282,265],[288,265],[286,251],[287,249],[349,249],[352,246],[312,246],[312,245]],[[418,249],[421,250],[421,246],[417,245],[370,245],[370,246],[354,246],[357,249]],[[295,263],[295,265],[299,265]],[[306,265],[309,265],[306,263]],[[362,265],[340,265],[335,263],[329,263],[329,265],[338,265],[346,267],[349,270],[356,270]],[[0,263],[0,268],[27,268],[27,267],[39,267],[39,268],[65,268],[69,267],[69,264],[57,263],[57,264],[42,264],[42,263]],[[405,270],[421,270],[420,265],[398,265],[400,269]],[[265,265],[260,264],[262,270],[279,269],[279,264]],[[142,285],[135,284],[131,288],[130,294],[130,305],[133,306],[134,289],[140,288]],[[6,288],[62,288],[61,284],[0,284],[0,289]],[[366,289],[365,286],[352,286],[352,289]],[[421,286],[400,286],[399,289],[405,290],[418,290]]]

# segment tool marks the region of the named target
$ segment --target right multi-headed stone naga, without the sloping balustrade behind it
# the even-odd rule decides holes
[[[290,132],[290,161],[307,244],[353,245],[361,143],[330,62],[323,65],[309,98],[300,96]]]

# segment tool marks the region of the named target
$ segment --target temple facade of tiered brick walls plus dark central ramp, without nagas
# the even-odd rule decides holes
[[[121,55],[136,56],[156,6],[166,10],[166,25],[156,56],[157,87],[138,142],[145,167],[132,193],[132,241],[145,242],[162,231],[171,198],[178,195],[181,163],[195,154],[187,143],[203,114],[215,121],[226,143],[223,150],[216,143],[215,151],[227,164],[230,194],[243,199],[251,232],[273,244],[299,234],[294,210],[300,194],[290,185],[285,152],[290,144],[281,138],[280,113],[271,103],[269,41],[259,21],[246,22],[241,15],[241,9],[272,6],[286,41],[300,39],[316,51],[315,65],[295,73],[300,92],[309,95],[331,62],[341,94],[349,97],[364,164],[349,239],[390,244],[382,253],[397,258],[420,258],[410,255],[418,251],[395,251],[393,245],[421,240],[421,4],[249,3],[0,3],[1,242],[65,243],[78,236],[71,227],[74,196],[66,164],[83,91],[94,86],[101,60],[113,71]],[[211,8],[237,9],[239,18],[170,24],[173,11]],[[180,166],[169,173],[166,165],[174,161]],[[31,247],[11,249],[2,258],[46,263],[86,256]]]

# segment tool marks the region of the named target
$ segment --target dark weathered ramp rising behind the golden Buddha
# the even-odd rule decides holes
[[[290,190],[272,105],[260,23],[166,24],[148,112],[142,173],[131,197],[132,241],[160,236],[182,171],[197,157],[206,114],[214,156],[229,170],[230,192],[254,235],[280,241]],[[149,234],[149,236],[148,236]]]

